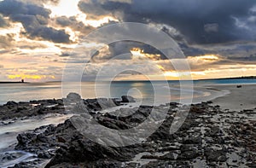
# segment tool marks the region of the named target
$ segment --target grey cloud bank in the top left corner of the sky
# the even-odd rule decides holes
[[[5,0],[0,3],[0,13],[22,23],[29,38],[42,38],[55,43],[69,43],[69,35],[63,30],[48,27],[49,9],[34,3]]]

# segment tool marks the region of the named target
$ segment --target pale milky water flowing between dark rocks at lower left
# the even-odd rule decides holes
[[[70,118],[72,114],[49,114],[44,117],[34,117],[32,119],[17,120],[9,125],[0,126],[0,160],[6,154],[14,154],[15,158],[0,161],[0,167],[13,166],[21,161],[31,161],[36,159],[35,154],[14,150],[17,143],[16,136],[26,130],[34,130],[43,125],[58,125]],[[2,157],[1,157],[2,156]]]

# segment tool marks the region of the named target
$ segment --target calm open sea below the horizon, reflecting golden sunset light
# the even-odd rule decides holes
[[[212,84],[256,84],[256,79],[212,79],[194,81],[194,86],[212,85]],[[154,86],[153,86],[154,85]],[[73,84],[70,84],[70,90],[73,90]],[[111,85],[105,83],[83,82],[81,84],[83,98],[95,97],[120,97],[123,95],[131,95],[138,99],[142,99],[147,103],[154,101],[155,97],[159,101],[177,101],[180,98],[191,96],[193,91],[194,97],[206,96],[209,94],[204,90],[195,87],[195,90],[186,90],[183,88],[183,95],[180,95],[180,87],[178,81],[168,81],[168,85],[164,82],[157,81],[151,84],[148,81],[122,81],[113,82]],[[159,90],[165,88],[165,90]],[[171,92],[167,93],[166,89]],[[76,90],[73,90],[76,92]],[[31,83],[31,84],[0,84],[0,104],[7,101],[31,101],[41,99],[62,98],[61,82],[51,83]]]

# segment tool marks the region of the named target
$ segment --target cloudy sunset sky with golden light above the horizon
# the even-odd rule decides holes
[[[84,40],[124,22],[165,32],[184,55],[172,62],[190,68],[148,43]],[[67,62],[84,66],[84,80],[124,67],[117,80],[253,76],[255,30],[255,0],[0,0],[0,81],[60,81]]]

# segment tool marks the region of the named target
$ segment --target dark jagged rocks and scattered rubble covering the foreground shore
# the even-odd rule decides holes
[[[75,97],[69,98],[69,101],[77,100]],[[84,107],[84,113],[90,115],[90,119],[113,130],[127,130],[142,124],[154,108],[118,108],[113,113],[102,113],[102,104],[106,105],[104,108],[119,106],[122,100],[113,99],[107,106],[108,101],[104,99],[104,103],[99,104],[97,100],[83,100],[82,105],[79,101],[74,107]],[[61,103],[58,104],[61,106]],[[140,143],[122,147],[92,141],[76,128],[73,118],[57,126],[46,125],[21,133],[17,136],[15,149],[30,152],[37,157],[14,167],[35,167],[46,160],[47,168],[256,167],[255,109],[230,112],[212,106],[211,102],[191,105],[183,125],[170,134],[170,127],[181,107],[183,105],[177,103],[156,107],[159,111],[167,109],[166,118],[160,127]],[[125,116],[116,115],[127,111],[129,114]]]

